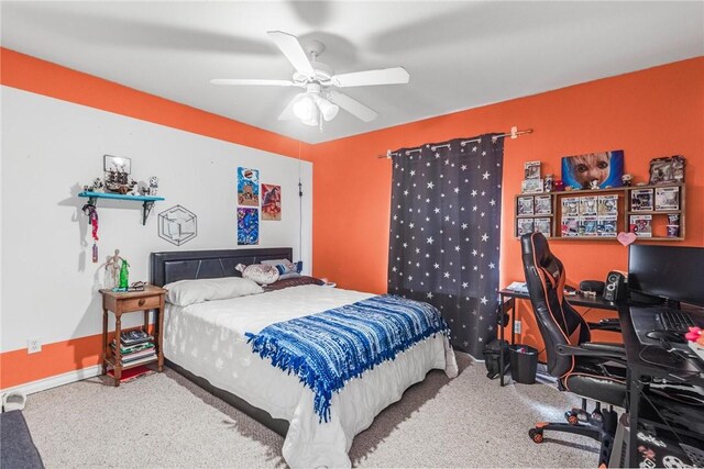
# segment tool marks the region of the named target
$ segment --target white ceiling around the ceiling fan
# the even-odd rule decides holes
[[[308,143],[704,55],[703,1],[193,1],[0,3],[2,46]],[[345,88],[380,113],[322,131],[277,121],[298,88],[266,32],[327,51],[339,74],[403,66],[410,83]]]

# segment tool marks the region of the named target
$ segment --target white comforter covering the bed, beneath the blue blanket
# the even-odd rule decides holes
[[[371,293],[302,286],[189,306],[167,304],[164,354],[183,368],[206,378],[273,417],[289,422],[283,455],[293,468],[350,467],[354,436],[367,428],[387,405],[400,399],[431,369],[458,373],[454,353],[438,334],[350,380],[331,402],[331,420],[318,423],[314,393],[298,378],[252,353],[245,332],[319,313],[371,298]]]

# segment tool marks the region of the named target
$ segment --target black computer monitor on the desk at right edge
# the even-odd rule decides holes
[[[628,290],[704,306],[704,247],[631,244]]]

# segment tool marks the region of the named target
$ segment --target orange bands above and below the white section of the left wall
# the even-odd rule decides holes
[[[112,81],[0,47],[0,83],[77,104],[232,142],[306,158],[307,144],[220,115],[147,94]],[[0,389],[98,365],[100,334],[0,354]]]

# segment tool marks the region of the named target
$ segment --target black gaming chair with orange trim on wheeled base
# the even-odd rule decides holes
[[[614,330],[610,322],[587,324],[564,298],[564,267],[540,233],[520,238],[530,303],[546,345],[548,372],[561,391],[582,397],[582,407],[565,412],[568,423],[539,422],[528,434],[542,443],[546,431],[590,436],[601,443],[600,466],[608,465],[617,415],[626,400],[626,354],[622,344],[590,342],[592,328]],[[586,400],[595,400],[590,414]],[[602,403],[609,404],[602,410]]]

